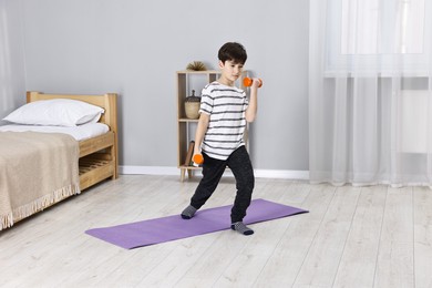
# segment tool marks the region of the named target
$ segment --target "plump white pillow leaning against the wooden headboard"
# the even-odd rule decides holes
[[[76,126],[97,122],[102,107],[70,99],[41,100],[28,103],[3,120],[25,125]]]

